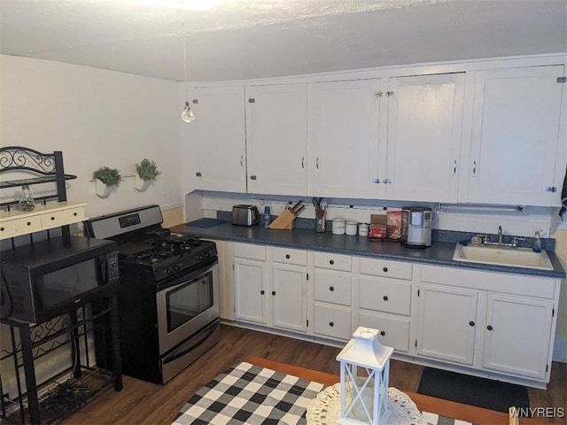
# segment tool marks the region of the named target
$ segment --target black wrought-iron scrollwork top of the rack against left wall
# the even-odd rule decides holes
[[[34,174],[34,177],[6,180],[5,174],[9,172],[26,172]],[[42,153],[22,146],[6,146],[0,148],[0,189],[14,188],[24,184],[37,184],[55,182],[57,192],[39,197],[38,200],[47,202],[49,199],[57,199],[59,202],[66,201],[66,180],[76,179],[73,174],[65,174],[63,168],[63,152],[54,151]],[[10,210],[11,205],[18,204],[17,200],[1,203],[0,206]]]

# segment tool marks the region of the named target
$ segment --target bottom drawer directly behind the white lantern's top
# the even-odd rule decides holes
[[[375,313],[360,313],[359,326],[380,330],[380,343],[399,352],[409,351],[409,319],[388,317]]]

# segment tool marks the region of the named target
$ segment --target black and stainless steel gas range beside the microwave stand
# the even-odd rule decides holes
[[[86,236],[118,243],[122,371],[151,383],[167,383],[220,337],[216,245],[162,222],[159,205],[84,222]]]

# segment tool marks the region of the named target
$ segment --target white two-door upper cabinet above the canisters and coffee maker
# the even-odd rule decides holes
[[[315,84],[313,195],[455,202],[463,102],[464,73]]]

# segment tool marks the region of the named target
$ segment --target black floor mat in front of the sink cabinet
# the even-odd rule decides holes
[[[432,367],[423,368],[417,392],[505,413],[508,413],[510,406],[530,406],[528,390],[522,385],[456,374]]]

